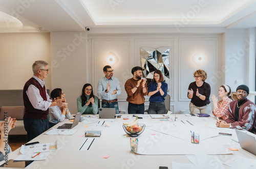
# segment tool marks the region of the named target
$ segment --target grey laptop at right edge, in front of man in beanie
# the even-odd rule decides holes
[[[243,131],[236,130],[239,144],[242,147],[242,149],[250,152],[251,154],[256,155],[256,140],[255,137],[244,133]]]

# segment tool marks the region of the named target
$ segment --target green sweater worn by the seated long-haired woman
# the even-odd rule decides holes
[[[86,96],[87,97],[87,101],[89,101],[90,96]],[[99,103],[99,98],[97,96],[94,96],[94,104],[92,105],[92,107],[87,106],[86,104],[84,104],[82,106],[82,99],[81,96],[79,96],[77,98],[77,110],[78,112],[83,112],[82,114],[97,114],[98,113],[98,103]]]

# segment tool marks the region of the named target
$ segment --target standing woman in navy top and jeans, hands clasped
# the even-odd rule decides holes
[[[147,114],[165,114],[165,96],[167,95],[167,83],[163,82],[163,74],[160,70],[154,72],[153,82],[148,85],[148,94],[150,96],[150,106]]]

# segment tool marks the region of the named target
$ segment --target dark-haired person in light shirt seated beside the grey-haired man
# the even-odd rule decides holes
[[[66,95],[59,88],[56,88],[51,92],[52,99],[65,99],[65,96]],[[59,107],[59,106],[49,107],[49,115],[50,115],[49,128],[53,127],[59,122],[63,122],[65,117],[70,119],[71,114],[68,109],[68,103],[62,107]]]

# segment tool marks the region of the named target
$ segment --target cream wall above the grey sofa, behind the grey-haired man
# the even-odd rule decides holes
[[[0,90],[23,89],[38,60],[50,64],[49,33],[0,34]],[[44,80],[51,90],[51,74]]]

